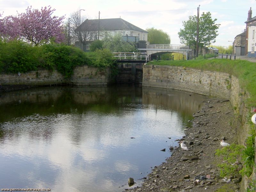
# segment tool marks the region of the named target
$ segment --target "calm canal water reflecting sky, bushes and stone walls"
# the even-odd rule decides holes
[[[0,93],[0,188],[117,192],[129,177],[140,185],[202,108],[204,96],[189,94],[134,85]]]

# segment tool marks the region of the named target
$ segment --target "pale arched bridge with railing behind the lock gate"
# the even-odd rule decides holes
[[[189,57],[189,52],[192,51],[189,49],[188,45],[178,45],[178,44],[151,44],[147,45],[145,49],[138,49],[139,51],[146,51],[149,55],[156,54],[156,53],[166,53],[166,52],[173,52],[173,53],[181,53],[183,55],[186,54],[186,57]]]

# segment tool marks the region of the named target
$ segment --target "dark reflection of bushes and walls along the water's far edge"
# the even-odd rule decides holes
[[[28,132],[30,138],[50,139],[54,127],[41,127],[40,131],[34,128],[8,131],[1,129],[1,123],[13,121],[19,124],[32,123],[39,116],[41,121],[47,118],[58,118],[60,114],[76,114],[76,122],[82,124],[85,114],[115,114],[125,115],[125,110],[136,110],[138,107],[179,111],[183,119],[191,118],[203,106],[204,96],[187,92],[166,90],[160,88],[138,87],[134,85],[122,86],[75,86],[75,87],[44,87],[16,92],[7,92],[1,95],[0,104],[0,138],[5,134],[18,136],[21,132]],[[139,105],[138,105],[139,104]],[[141,104],[141,105],[140,105]],[[148,105],[152,104],[152,105]],[[124,109],[125,108],[125,109]],[[25,120],[24,120],[25,119]],[[39,120],[38,120],[39,121]],[[72,127],[70,137],[79,143],[81,127]],[[74,130],[75,129],[75,130]],[[18,134],[18,135],[17,135]]]

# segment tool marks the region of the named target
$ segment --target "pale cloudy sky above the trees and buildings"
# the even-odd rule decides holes
[[[211,12],[212,19],[220,24],[218,36],[213,45],[229,46],[236,35],[245,29],[248,10],[252,7],[252,17],[256,16],[256,0],[0,0],[0,13],[3,17],[26,12],[28,6],[34,9],[51,6],[56,9],[53,15],[67,19],[70,13],[81,11],[81,16],[91,19],[122,18],[146,30],[154,27],[162,29],[171,38],[171,44],[181,44],[178,32],[183,28],[182,21],[197,15],[200,5],[202,12]]]

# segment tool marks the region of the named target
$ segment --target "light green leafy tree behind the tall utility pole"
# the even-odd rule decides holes
[[[199,38],[198,44],[200,47],[215,43],[215,39],[218,36],[218,28],[220,24],[215,24],[217,19],[212,20],[210,12],[206,14],[203,12],[199,18]],[[197,16],[189,16],[187,21],[182,21],[184,29],[180,29],[178,32],[180,43],[196,47],[196,24]]]

